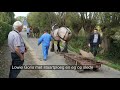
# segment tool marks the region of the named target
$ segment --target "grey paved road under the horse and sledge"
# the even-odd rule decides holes
[[[38,39],[27,38],[26,32],[21,32],[36,65],[67,65],[63,56],[49,51],[47,61],[42,61],[41,45],[37,45]],[[29,64],[29,63],[26,63]],[[120,78],[120,72],[108,66],[102,65],[99,72],[85,71],[78,73],[75,70],[39,70],[44,78]]]

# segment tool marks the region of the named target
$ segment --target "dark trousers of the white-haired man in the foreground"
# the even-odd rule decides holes
[[[9,78],[16,78],[20,73],[21,69],[12,69],[14,66],[22,66],[24,60],[21,61],[20,57],[16,53],[11,53],[12,64],[10,66]]]

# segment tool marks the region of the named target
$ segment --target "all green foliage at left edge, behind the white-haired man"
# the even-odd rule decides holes
[[[3,45],[14,23],[13,12],[0,12],[0,46]]]

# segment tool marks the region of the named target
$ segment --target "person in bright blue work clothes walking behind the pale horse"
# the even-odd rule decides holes
[[[42,52],[43,52],[44,61],[47,60],[48,50],[49,50],[51,40],[52,40],[52,36],[48,33],[47,30],[45,30],[44,34],[38,39],[38,46],[42,43]]]

